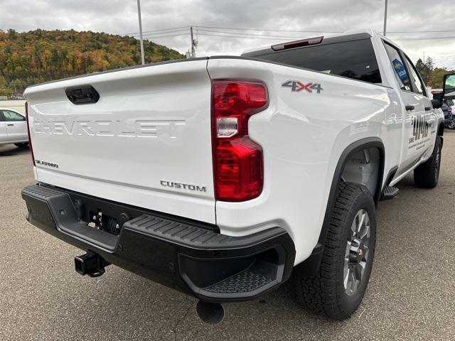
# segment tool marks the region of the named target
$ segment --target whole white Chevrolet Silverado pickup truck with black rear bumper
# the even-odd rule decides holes
[[[374,31],[129,67],[28,87],[27,220],[196,296],[208,322],[294,279],[344,319],[362,300],[375,205],[414,171],[434,188],[441,100]]]

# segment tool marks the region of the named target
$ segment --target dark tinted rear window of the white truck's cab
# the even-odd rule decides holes
[[[348,77],[353,80],[370,83],[382,82],[378,61],[370,39],[312,45],[254,55],[254,57]]]

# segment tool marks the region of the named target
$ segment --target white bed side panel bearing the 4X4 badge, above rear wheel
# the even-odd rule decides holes
[[[264,149],[264,190],[248,202],[217,202],[218,227],[232,235],[284,227],[294,239],[299,264],[318,241],[344,149],[371,136],[382,140],[386,150],[396,149],[387,139],[387,131],[397,131],[397,139],[401,136],[402,118],[391,101],[395,91],[255,60],[210,59],[208,72],[212,79],[261,80],[270,98],[269,107],[249,121],[250,137]],[[293,92],[282,86],[289,80],[319,84],[323,90]],[[397,165],[399,156],[399,151],[390,153],[386,168]]]

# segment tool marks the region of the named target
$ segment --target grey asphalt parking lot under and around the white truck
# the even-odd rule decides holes
[[[33,182],[28,150],[0,146],[0,340],[455,340],[455,131],[444,134],[439,185],[378,207],[375,263],[365,299],[343,322],[309,315],[290,283],[225,305],[205,325],[196,300],[109,266],[103,281],[75,273],[79,249],[24,219]]]

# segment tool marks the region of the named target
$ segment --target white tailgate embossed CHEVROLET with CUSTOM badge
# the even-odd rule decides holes
[[[215,223],[207,60],[29,87],[38,181]],[[96,103],[65,90],[92,86]]]

